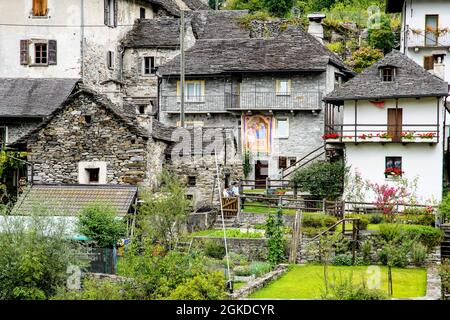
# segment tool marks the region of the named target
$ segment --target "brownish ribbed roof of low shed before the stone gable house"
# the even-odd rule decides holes
[[[96,202],[111,205],[124,216],[133,205],[136,186],[129,185],[33,185],[17,201],[13,215],[27,215],[43,209],[55,215],[78,215],[86,206]]]

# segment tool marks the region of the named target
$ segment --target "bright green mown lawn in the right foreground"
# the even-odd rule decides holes
[[[387,267],[381,268],[381,290],[387,292]],[[348,277],[353,271],[353,281],[361,282],[362,276],[370,276],[368,267],[330,266],[330,279]],[[394,298],[422,297],[426,294],[426,269],[392,269]],[[367,280],[366,280],[367,281]],[[323,266],[293,266],[280,279],[253,293],[250,298],[257,299],[320,299],[323,292]]]

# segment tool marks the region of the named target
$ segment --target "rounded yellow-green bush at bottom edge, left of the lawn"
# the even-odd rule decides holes
[[[197,275],[178,285],[171,293],[171,300],[223,300],[225,279],[219,272]]]

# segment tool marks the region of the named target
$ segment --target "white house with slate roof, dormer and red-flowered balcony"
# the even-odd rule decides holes
[[[363,180],[417,179],[418,202],[440,201],[447,96],[446,82],[394,50],[325,97],[324,139]]]

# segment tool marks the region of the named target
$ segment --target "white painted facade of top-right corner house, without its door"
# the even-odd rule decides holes
[[[438,28],[449,29],[438,37],[437,46],[426,45],[425,25],[427,15],[438,15]],[[424,66],[424,57],[446,53],[443,65],[435,64],[434,73],[450,82],[450,1],[405,0],[402,10],[401,51],[416,63]],[[441,70],[442,69],[442,70]]]

